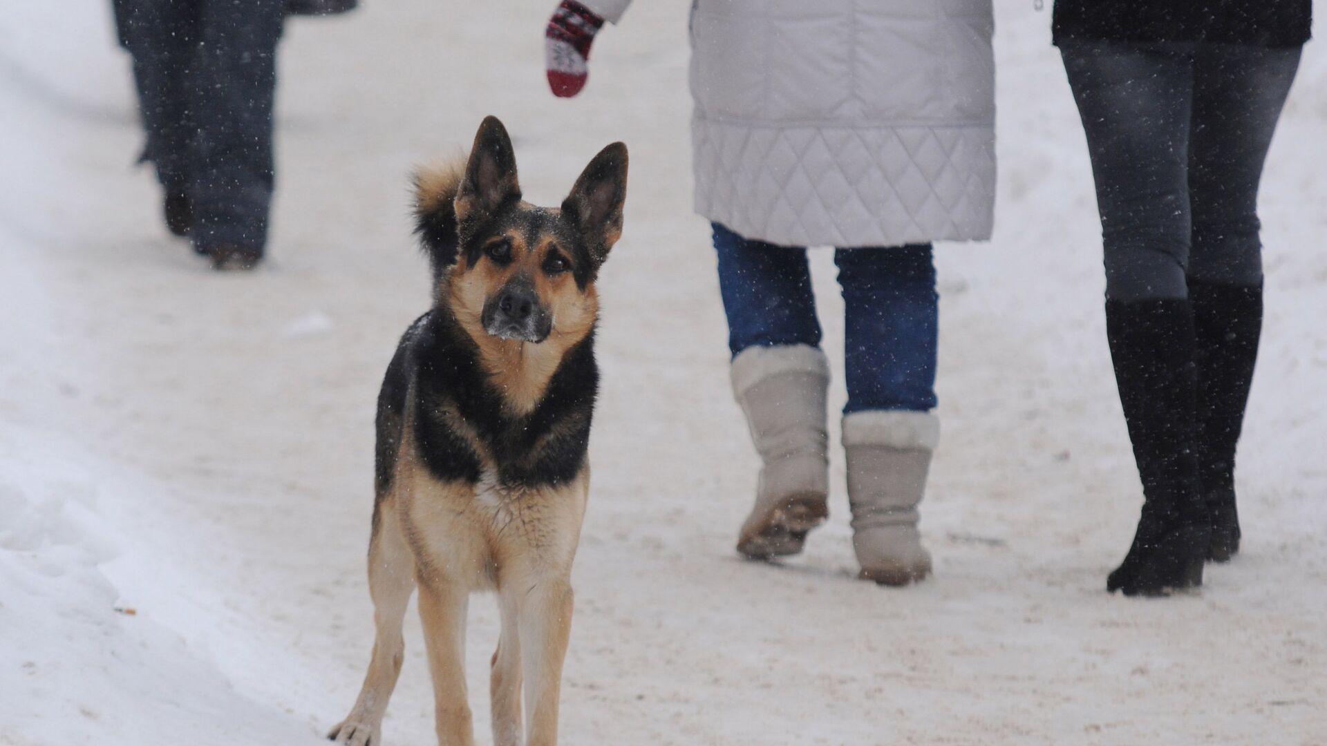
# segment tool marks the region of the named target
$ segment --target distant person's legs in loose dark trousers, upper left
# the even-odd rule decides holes
[[[166,224],[218,269],[263,258],[283,0],[115,0]]]

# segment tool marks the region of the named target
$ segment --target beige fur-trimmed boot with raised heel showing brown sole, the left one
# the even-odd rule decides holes
[[[829,515],[828,386],[829,366],[813,346],[752,346],[733,360],[733,393],[764,462],[738,536],[743,556],[795,555]]]

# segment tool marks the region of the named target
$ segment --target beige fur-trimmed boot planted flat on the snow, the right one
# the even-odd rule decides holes
[[[906,585],[930,575],[917,504],[938,441],[940,419],[929,411],[856,411],[843,418],[860,577]]]

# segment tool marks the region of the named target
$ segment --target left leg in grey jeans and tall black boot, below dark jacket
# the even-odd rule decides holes
[[[1107,589],[1202,583],[1209,536],[1196,458],[1185,284],[1192,57],[1177,46],[1062,46],[1087,134],[1107,271],[1107,341],[1143,483],[1137,532]]]

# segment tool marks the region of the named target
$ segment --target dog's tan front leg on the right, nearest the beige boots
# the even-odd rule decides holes
[[[519,600],[527,746],[557,743],[557,701],[572,632],[572,605],[567,576],[540,579]]]

